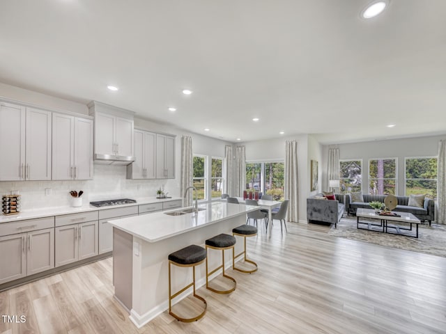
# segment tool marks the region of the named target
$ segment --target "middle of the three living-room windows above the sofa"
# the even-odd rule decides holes
[[[369,193],[397,194],[397,158],[369,160]]]

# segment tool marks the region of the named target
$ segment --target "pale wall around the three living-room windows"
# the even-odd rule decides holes
[[[398,190],[404,195],[404,158],[431,157],[438,155],[438,141],[443,136],[401,138],[387,141],[367,141],[362,143],[339,144],[340,159],[362,159],[362,192],[368,193],[367,175],[369,175],[369,159],[398,158]],[[327,159],[329,145],[323,145],[324,182],[327,182]]]

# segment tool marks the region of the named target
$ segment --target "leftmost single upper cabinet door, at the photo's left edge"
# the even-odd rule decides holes
[[[24,180],[25,107],[0,102],[0,181]]]

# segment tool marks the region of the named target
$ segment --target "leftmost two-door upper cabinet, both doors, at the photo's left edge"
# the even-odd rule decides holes
[[[52,113],[0,102],[1,181],[51,180]]]

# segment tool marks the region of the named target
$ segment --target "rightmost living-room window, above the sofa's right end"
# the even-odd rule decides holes
[[[425,193],[437,197],[437,157],[406,158],[406,196]]]

